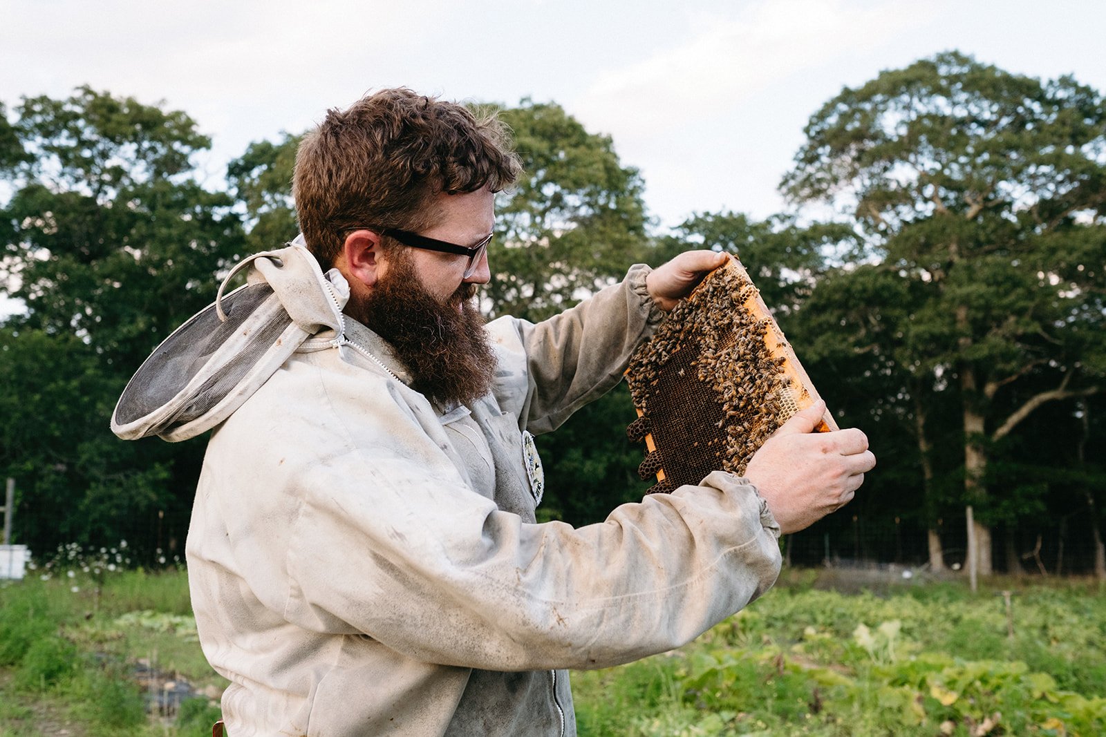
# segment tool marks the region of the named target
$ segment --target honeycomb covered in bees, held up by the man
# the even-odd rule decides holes
[[[792,387],[782,348],[790,352],[737,261],[668,314],[626,371],[639,414],[627,435],[646,442],[638,475],[657,476],[650,493],[698,484],[714,470],[743,475],[753,453],[799,410],[796,392],[813,401],[806,388]]]

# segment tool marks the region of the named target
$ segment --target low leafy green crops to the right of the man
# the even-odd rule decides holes
[[[574,674],[580,731],[1100,734],[1103,593],[1015,592],[1012,640],[995,593],[971,597],[945,586],[888,598],[778,590],[679,651]],[[1075,611],[1063,615],[1066,608]],[[981,635],[988,643],[973,647]],[[1068,675],[1019,660],[1025,643],[1042,638],[1071,638],[1057,657]],[[1081,667],[1097,675],[1071,677]]]

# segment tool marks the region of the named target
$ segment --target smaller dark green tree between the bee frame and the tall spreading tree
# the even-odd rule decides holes
[[[810,370],[826,377],[818,389],[832,408],[845,410],[842,424],[863,429],[879,459],[846,514],[877,517],[885,528],[891,519],[927,530],[929,564],[940,571],[941,523],[950,497],[961,496],[956,493],[961,473],[948,462],[954,454],[950,442],[954,451],[960,435],[941,432],[950,427],[954,386],[915,361],[915,347],[905,343],[915,309],[925,302],[921,286],[881,265],[832,269],[789,335],[803,346]]]

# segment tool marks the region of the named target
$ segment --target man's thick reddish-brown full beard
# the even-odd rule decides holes
[[[468,404],[491,390],[495,376],[495,351],[476,292],[476,284],[461,284],[445,304],[438,302],[410,259],[397,252],[354,316],[392,344],[416,391],[439,404]]]

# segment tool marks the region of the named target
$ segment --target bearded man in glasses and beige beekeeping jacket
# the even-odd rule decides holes
[[[121,400],[128,436],[216,427],[188,572],[234,737],[573,735],[565,668],[678,647],[738,611],[775,580],[781,529],[847,502],[875,463],[859,431],[811,434],[820,404],[744,478],[536,524],[531,433],[617,383],[726,256],[633,266],[550,320],[483,325],[494,192],[518,175],[502,127],[461,105],[387,90],[331,110],[296,157],[302,236],[253,256],[249,285]],[[191,393],[149,412],[173,376]]]

